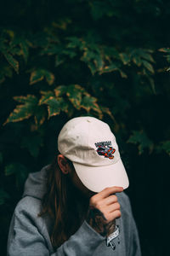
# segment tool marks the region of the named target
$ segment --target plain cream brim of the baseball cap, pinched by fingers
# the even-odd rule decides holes
[[[121,158],[108,166],[84,166],[75,162],[73,165],[82,183],[94,192],[100,192],[106,187],[118,186],[127,189],[129,186]]]

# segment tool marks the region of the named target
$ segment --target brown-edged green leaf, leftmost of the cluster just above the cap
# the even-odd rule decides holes
[[[9,122],[18,122],[23,119],[28,119],[35,113],[38,103],[36,96],[14,96],[14,100],[23,104],[17,105],[16,108],[14,108],[13,112],[9,114],[8,119],[3,123],[3,125],[6,125]]]

